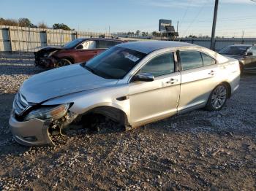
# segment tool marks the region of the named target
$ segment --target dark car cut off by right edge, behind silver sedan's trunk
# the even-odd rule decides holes
[[[241,73],[256,71],[256,45],[235,44],[219,50],[219,54],[238,59]]]

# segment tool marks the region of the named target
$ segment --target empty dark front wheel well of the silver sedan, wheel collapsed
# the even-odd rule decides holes
[[[98,114],[108,117],[110,120],[120,123],[120,125],[128,124],[127,114],[125,114],[121,109],[117,109],[113,106],[98,106],[82,115],[83,117],[86,117],[91,115],[97,116]]]

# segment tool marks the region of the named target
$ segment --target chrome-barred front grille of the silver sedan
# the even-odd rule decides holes
[[[21,93],[17,93],[13,102],[15,114],[22,115],[23,112],[26,112],[26,110],[29,109],[29,107],[30,106],[28,101],[26,101],[26,98]]]

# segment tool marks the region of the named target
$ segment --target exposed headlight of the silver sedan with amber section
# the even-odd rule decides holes
[[[42,106],[39,109],[31,111],[25,117],[25,120],[32,120],[34,118],[40,120],[56,120],[63,117],[67,113],[67,109],[69,109],[69,104],[62,104],[59,106]]]

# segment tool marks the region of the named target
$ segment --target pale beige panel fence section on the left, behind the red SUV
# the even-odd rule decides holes
[[[109,34],[61,29],[0,26],[0,51],[34,52],[46,46],[61,46],[73,39]]]

